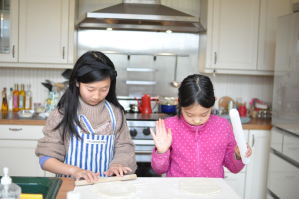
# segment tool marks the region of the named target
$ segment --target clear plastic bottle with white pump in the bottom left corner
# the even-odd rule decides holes
[[[8,168],[3,168],[4,176],[1,178],[0,184],[0,198],[19,199],[21,195],[21,187],[12,183],[8,176]]]

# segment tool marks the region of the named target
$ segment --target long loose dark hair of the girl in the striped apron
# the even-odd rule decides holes
[[[88,73],[81,74],[82,67],[86,67],[89,63],[92,65],[102,65],[102,68],[96,68],[96,70],[92,70]],[[81,70],[79,70],[81,69]],[[79,70],[79,73],[78,73]],[[67,135],[75,135],[78,139],[81,139],[79,136],[75,123],[82,128],[77,116],[77,109],[79,104],[79,87],[76,86],[76,81],[80,84],[82,83],[90,83],[96,81],[102,81],[107,78],[111,79],[110,89],[108,95],[106,96],[106,100],[115,106],[119,107],[124,112],[124,108],[120,105],[116,98],[115,87],[116,87],[116,71],[114,64],[112,61],[103,53],[98,51],[89,51],[83,54],[78,61],[76,62],[72,73],[70,75],[69,87],[61,97],[60,101],[57,104],[58,111],[63,115],[63,119],[61,122],[54,128],[54,130],[62,128],[62,139],[64,140]],[[122,123],[124,120],[124,116],[122,114]]]

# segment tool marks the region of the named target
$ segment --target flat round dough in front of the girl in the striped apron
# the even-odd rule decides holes
[[[133,185],[121,181],[94,184],[93,191],[111,198],[122,198],[136,193]]]

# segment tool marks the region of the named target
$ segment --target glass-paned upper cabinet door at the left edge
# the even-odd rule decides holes
[[[19,4],[18,0],[0,1],[0,61],[18,61],[18,25]]]

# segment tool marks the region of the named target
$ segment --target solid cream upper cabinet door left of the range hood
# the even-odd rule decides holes
[[[67,63],[68,3],[20,1],[20,62]]]

